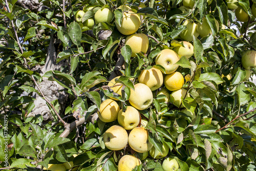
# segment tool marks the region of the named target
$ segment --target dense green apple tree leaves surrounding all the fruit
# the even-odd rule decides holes
[[[248,14],[246,22],[239,22],[234,10],[228,9],[223,0],[212,3],[196,0],[188,11],[179,9],[181,0],[145,1],[145,8],[138,8],[139,1],[129,0],[45,0],[41,3],[47,8],[40,11],[15,3],[15,0],[1,1],[0,11],[1,127],[5,128],[5,118],[9,122],[7,133],[5,129],[0,130],[0,161],[6,161],[6,154],[8,158],[7,165],[0,163],[2,168],[39,170],[36,167],[73,161],[78,170],[116,170],[124,154],[141,159],[141,154],[129,145],[117,151],[105,147],[103,133],[112,125],[118,125],[117,120],[104,123],[91,122],[88,118],[110,97],[119,99],[119,106],[125,110],[130,89],[138,82],[141,70],[154,66],[164,72],[162,66],[155,65],[157,54],[164,48],[183,46],[179,42],[183,41],[180,34],[186,29],[185,20],[202,23],[205,17],[211,34],[193,36],[194,55],[189,59],[183,56],[177,62],[177,71],[185,78],[183,88],[190,94],[182,100],[183,105],[195,116],[182,112],[172,103],[164,103],[165,96],[156,95],[159,89],[153,91],[153,104],[140,111],[141,119],[148,121],[145,128],[149,141],[159,151],[163,143],[167,144],[167,157],[174,157],[182,171],[255,170],[256,90],[255,84],[245,79],[241,55],[247,49],[256,48],[256,20],[252,15],[255,11],[251,10],[256,1],[235,2]],[[150,41],[145,54],[131,57],[131,48],[123,41],[126,36],[117,30],[116,24],[121,24],[125,12],[117,7],[123,4],[141,15],[137,33],[148,35]],[[94,18],[101,8],[109,8],[113,19],[110,23],[95,24],[90,31],[74,17],[84,6],[93,9],[83,15],[82,22]],[[101,30],[111,30],[112,34],[99,40]],[[48,48],[53,46],[51,39],[56,39],[57,64],[66,61],[67,65],[40,75],[33,68],[45,65]],[[120,96],[106,85],[121,55],[124,64],[119,67],[123,77],[116,79],[118,84],[124,85]],[[252,68],[251,75],[255,71]],[[229,74],[231,80],[225,77]],[[56,81],[69,94],[62,113],[59,113],[58,100],[48,105],[54,118],[49,122],[43,121],[40,115],[26,117],[34,108],[33,92],[44,96],[35,86],[42,78]],[[59,122],[59,118],[64,117],[63,122]],[[73,128],[67,137],[60,136],[69,129],[70,123],[81,118],[86,122]],[[164,159],[149,155],[134,170],[163,170]]]

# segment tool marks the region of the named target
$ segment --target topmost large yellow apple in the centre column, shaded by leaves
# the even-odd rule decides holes
[[[123,13],[121,27],[116,23],[117,30],[124,34],[130,35],[135,33],[140,27],[140,16],[133,11]]]

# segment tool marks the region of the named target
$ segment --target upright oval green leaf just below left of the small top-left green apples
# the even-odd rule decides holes
[[[73,22],[69,25],[69,36],[71,41],[79,47],[82,38],[82,30],[78,23]]]

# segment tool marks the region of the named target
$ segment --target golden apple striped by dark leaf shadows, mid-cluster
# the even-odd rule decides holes
[[[150,87],[151,91],[154,91],[162,86],[163,74],[157,68],[143,69],[138,77],[138,81]]]

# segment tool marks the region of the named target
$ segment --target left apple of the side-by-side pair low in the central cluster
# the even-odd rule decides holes
[[[104,132],[103,141],[107,148],[120,150],[127,145],[128,134],[122,126],[113,125]]]

